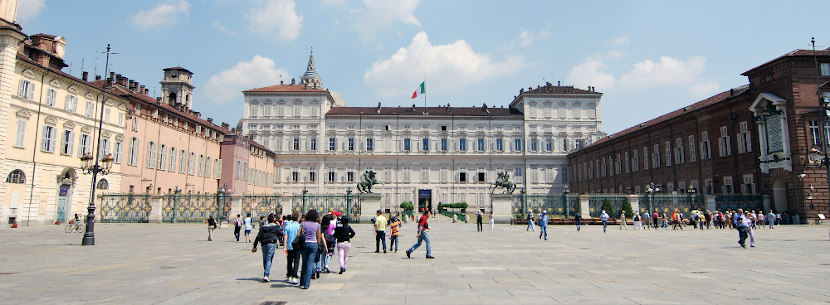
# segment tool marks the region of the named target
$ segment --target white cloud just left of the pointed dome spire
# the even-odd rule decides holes
[[[243,90],[278,84],[289,78],[283,68],[276,68],[274,61],[260,55],[250,61],[240,61],[232,68],[219,72],[205,84],[204,98],[216,104],[226,104],[241,99]]]

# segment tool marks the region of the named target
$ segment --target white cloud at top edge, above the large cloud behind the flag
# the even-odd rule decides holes
[[[421,26],[413,13],[420,0],[363,0],[365,9],[355,10],[354,29],[364,38],[374,37],[378,32],[389,30],[397,23]]]

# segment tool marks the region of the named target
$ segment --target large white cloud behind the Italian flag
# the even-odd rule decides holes
[[[512,75],[525,66],[521,57],[495,62],[487,54],[476,53],[464,40],[433,45],[420,32],[412,43],[387,59],[378,60],[363,74],[363,82],[375,88],[382,98],[405,97],[424,80],[427,92],[456,91],[460,87],[491,78]]]

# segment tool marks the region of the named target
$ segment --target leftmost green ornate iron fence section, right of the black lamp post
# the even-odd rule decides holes
[[[148,222],[151,206],[147,194],[101,195],[101,222]]]

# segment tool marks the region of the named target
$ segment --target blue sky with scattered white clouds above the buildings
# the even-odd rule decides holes
[[[242,91],[299,81],[314,48],[347,106],[507,107],[545,82],[603,93],[612,134],[747,83],[795,49],[830,47],[830,1],[19,0],[23,32],[67,39],[64,72],[109,71],[160,94],[194,73],[193,110],[236,125]],[[826,14],[825,14],[826,15]]]

